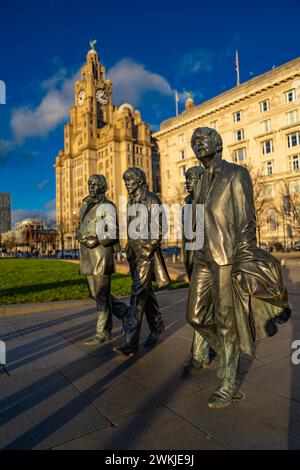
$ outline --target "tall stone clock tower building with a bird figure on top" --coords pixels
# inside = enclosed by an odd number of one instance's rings
[[[91,49],[75,83],[71,119],[64,127],[64,149],[56,157],[56,218],[65,248],[76,247],[79,208],[90,175],[101,173],[108,197],[118,206],[126,197],[123,172],[142,168],[150,189],[159,189],[159,161],[150,127],[130,104],[113,104],[113,85],[96,50]],[[154,178],[154,180],[153,180]]]

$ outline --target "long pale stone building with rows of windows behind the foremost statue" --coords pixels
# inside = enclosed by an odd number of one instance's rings
[[[261,243],[300,240],[300,59],[198,106],[188,98],[178,117],[161,124],[154,137],[165,203],[185,196],[185,171],[197,164],[190,140],[199,126],[217,129],[223,157],[249,167]]]

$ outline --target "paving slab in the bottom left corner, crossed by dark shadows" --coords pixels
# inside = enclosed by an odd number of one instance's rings
[[[110,425],[53,368],[2,378],[0,384],[2,449],[48,449]]]

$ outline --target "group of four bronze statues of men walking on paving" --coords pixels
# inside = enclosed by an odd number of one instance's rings
[[[255,357],[255,341],[274,335],[277,325],[286,322],[291,311],[279,262],[257,247],[249,172],[222,159],[222,139],[214,129],[197,128],[191,145],[199,161],[199,166],[189,168],[185,175],[189,193],[185,208],[190,210],[193,233],[197,234],[200,204],[204,218],[201,246],[193,245],[183,230],[184,264],[190,280],[186,318],[194,330],[192,356],[183,372],[201,372],[215,359],[219,385],[208,406],[222,408],[237,397],[240,354]],[[161,201],[148,190],[140,168],[126,170],[123,180],[129,195],[128,226],[134,221],[135,205],[146,212],[145,218],[138,219],[140,236],[127,232],[126,254],[132,277],[129,305],[111,295],[115,253],[120,250],[119,227],[116,207],[105,196],[103,175],[89,178],[78,240],[81,273],[87,276],[98,311],[96,334],[85,344],[93,347],[110,339],[115,315],[123,323],[123,341],[114,351],[131,357],[139,348],[144,314],[150,331],[146,347],[154,346],[164,331],[152,281],[155,278],[161,287],[170,278],[161,251],[162,213],[152,210],[161,206]],[[184,228],[184,215],[182,223]],[[154,237],[150,236],[153,225],[157,226]]]

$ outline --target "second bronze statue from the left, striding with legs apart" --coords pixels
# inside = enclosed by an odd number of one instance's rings
[[[162,287],[170,282],[170,278],[160,249],[163,227],[162,215],[158,209],[161,201],[156,194],[148,190],[146,174],[140,168],[128,168],[123,174],[123,179],[129,194],[126,253],[132,276],[132,289],[128,315],[124,318],[123,343],[115,347],[114,351],[123,356],[131,356],[139,348],[144,314],[150,329],[144,346],[155,345],[159,335],[163,333],[164,323],[152,281],[155,276],[158,286]],[[138,218],[133,214],[135,209],[140,216]],[[131,227],[135,227],[135,220],[138,225],[137,231],[133,233]],[[134,225],[131,225],[132,223]],[[153,228],[157,230],[152,230]]]

